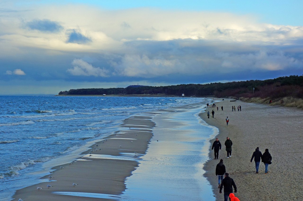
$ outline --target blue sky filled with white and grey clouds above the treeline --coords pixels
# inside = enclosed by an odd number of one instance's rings
[[[1,0],[0,94],[302,75],[303,1]]]

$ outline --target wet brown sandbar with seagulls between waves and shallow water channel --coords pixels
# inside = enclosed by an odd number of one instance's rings
[[[126,177],[130,176],[131,172],[138,167],[136,158],[140,154],[145,154],[148,148],[148,141],[152,137],[151,129],[154,126],[155,123],[151,121],[151,117],[149,116],[133,116],[124,120],[124,123],[121,125],[122,130],[108,136],[106,138],[108,140],[103,141],[104,143],[101,141],[92,146],[94,152],[92,152],[91,157],[89,156],[90,149],[83,153],[86,154],[84,157],[78,158],[82,160],[75,160],[70,165],[61,165],[64,167],[63,169],[61,169],[60,166],[52,168],[56,171],[42,178],[48,179],[48,176],[52,176],[52,180],[54,181],[38,183],[20,189],[15,193],[13,198],[15,198],[15,200],[22,198],[26,201],[109,200],[105,198],[58,195],[53,194],[53,192],[98,193],[98,196],[100,196],[100,194],[105,194],[105,197],[106,195],[116,195],[117,198],[119,198],[119,195],[125,190]],[[94,148],[102,148],[102,150],[95,151]],[[121,152],[129,153],[126,158],[131,160],[106,158],[103,156],[122,156]],[[97,156],[102,157],[98,158]],[[78,185],[73,187],[72,183]],[[46,185],[53,187],[48,189]],[[43,189],[37,190],[37,187],[43,187]]]

